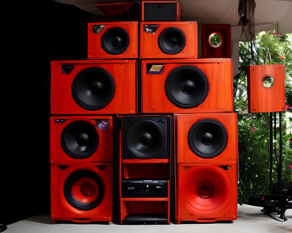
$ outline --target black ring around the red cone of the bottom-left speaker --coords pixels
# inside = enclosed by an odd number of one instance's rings
[[[93,179],[98,185],[99,193],[98,193],[97,198],[93,202],[89,202],[89,203],[80,202],[72,194],[72,186],[74,182],[81,177],[89,177]],[[97,174],[91,171],[80,170],[77,172],[72,172],[64,183],[65,199],[71,206],[79,210],[88,211],[88,210],[95,209],[102,201],[103,195],[104,195],[104,189],[103,189],[102,181]]]

